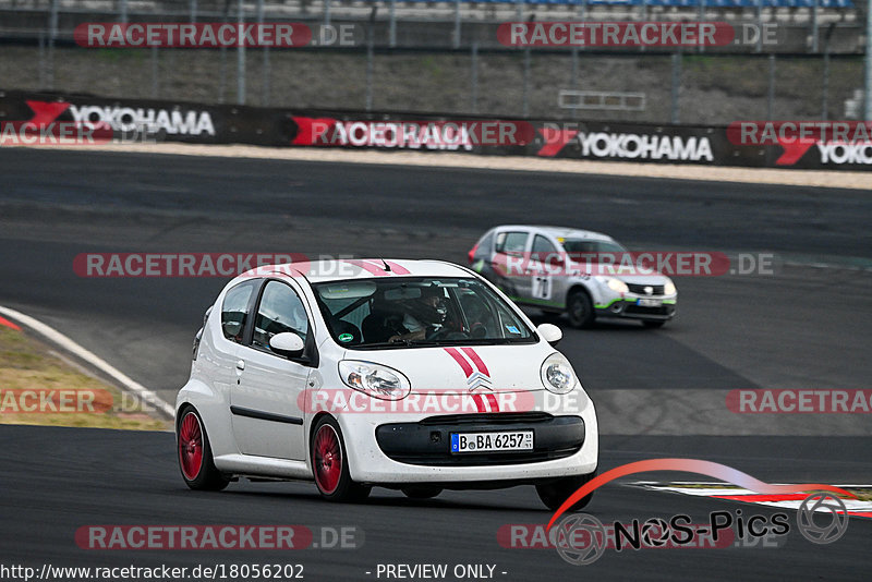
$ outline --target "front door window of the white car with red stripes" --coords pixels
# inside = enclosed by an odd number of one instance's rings
[[[252,348],[271,353],[270,338],[284,331],[296,334],[305,341],[308,335],[306,310],[293,289],[279,281],[269,281],[254,317]]]

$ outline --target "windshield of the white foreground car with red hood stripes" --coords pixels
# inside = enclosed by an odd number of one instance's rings
[[[312,286],[330,335],[355,349],[534,343],[486,284],[460,278],[355,279]]]

